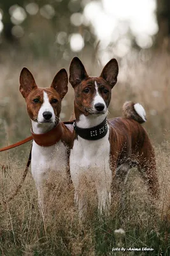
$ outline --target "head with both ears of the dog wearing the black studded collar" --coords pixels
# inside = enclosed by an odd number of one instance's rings
[[[75,93],[75,115],[105,114],[111,100],[111,89],[117,83],[117,60],[111,59],[99,77],[90,77],[83,63],[75,57],[71,61],[69,72],[69,82]]]

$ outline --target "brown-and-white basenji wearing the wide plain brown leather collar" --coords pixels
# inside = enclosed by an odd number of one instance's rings
[[[69,179],[69,147],[73,125],[60,122],[62,99],[67,93],[67,72],[63,68],[47,88],[39,88],[27,68],[20,73],[20,92],[25,98],[32,124],[31,172],[38,190],[43,219],[46,212],[43,186],[50,173]]]

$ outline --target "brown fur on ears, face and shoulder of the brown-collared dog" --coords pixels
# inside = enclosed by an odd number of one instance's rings
[[[50,87],[39,88],[36,85],[31,72],[27,68],[22,69],[20,74],[20,92],[25,98],[25,102],[27,104],[27,113],[29,114],[31,120],[36,121],[38,117],[39,109],[43,104],[43,92],[48,94],[48,99],[52,105],[55,116],[59,118],[62,99],[67,93],[67,80],[66,70],[62,68],[53,78]],[[39,99],[39,102],[34,102],[34,99]],[[57,99],[57,102],[53,103],[53,99]],[[61,124],[63,130],[61,141],[70,147],[73,125],[64,125],[63,123]]]

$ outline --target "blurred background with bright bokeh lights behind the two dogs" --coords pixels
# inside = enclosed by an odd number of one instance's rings
[[[1,0],[0,144],[30,134],[20,95],[22,67],[38,86],[50,86],[56,72],[78,56],[97,76],[117,58],[110,117],[122,115],[125,100],[146,109],[145,124],[154,143],[169,147],[170,3],[168,0]],[[73,89],[62,102],[62,120],[73,111]]]

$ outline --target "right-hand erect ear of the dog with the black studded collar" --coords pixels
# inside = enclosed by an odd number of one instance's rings
[[[116,59],[111,59],[101,72],[101,77],[106,80],[111,88],[117,83],[118,63]]]

